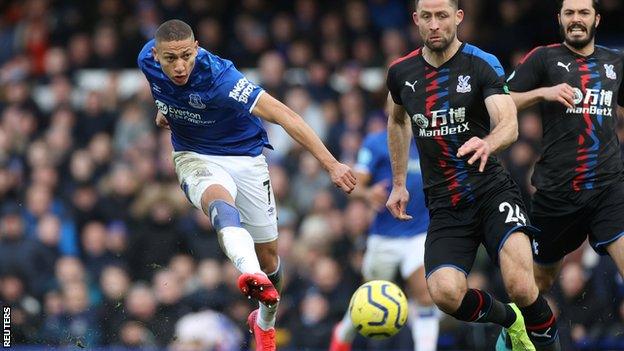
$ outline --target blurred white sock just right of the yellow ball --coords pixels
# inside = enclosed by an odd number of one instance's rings
[[[410,317],[414,350],[435,351],[438,347],[440,311],[435,305],[420,306],[410,303]]]

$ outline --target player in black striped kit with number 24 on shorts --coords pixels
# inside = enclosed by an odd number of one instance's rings
[[[516,350],[558,350],[555,318],[533,278],[532,230],[519,190],[491,155],[518,133],[504,71],[496,57],[459,41],[463,11],[456,0],[417,1],[413,17],[425,46],[388,71],[393,188],[387,206],[395,217],[410,218],[405,175],[411,122],[430,212],[425,270],[434,302],[459,320],[505,327]],[[491,130],[490,118],[496,124]],[[479,244],[500,266],[517,306],[468,288]],[[554,342],[527,336],[525,324],[551,333]]]

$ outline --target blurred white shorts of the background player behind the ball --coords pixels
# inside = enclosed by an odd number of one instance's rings
[[[369,235],[362,262],[364,279],[393,280],[398,269],[401,277],[407,279],[424,265],[425,238],[425,233],[397,238]]]

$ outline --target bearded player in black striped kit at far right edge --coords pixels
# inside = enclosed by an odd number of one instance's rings
[[[624,106],[624,54],[594,44],[598,1],[560,3],[564,42],[534,49],[508,79],[519,109],[540,103],[542,112],[531,216],[541,229],[533,255],[542,291],[588,235],[624,276],[624,167],[615,133],[618,105]]]

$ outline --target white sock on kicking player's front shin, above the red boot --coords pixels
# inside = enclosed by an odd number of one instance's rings
[[[253,239],[246,229],[225,227],[218,236],[223,252],[241,273],[262,272]]]

